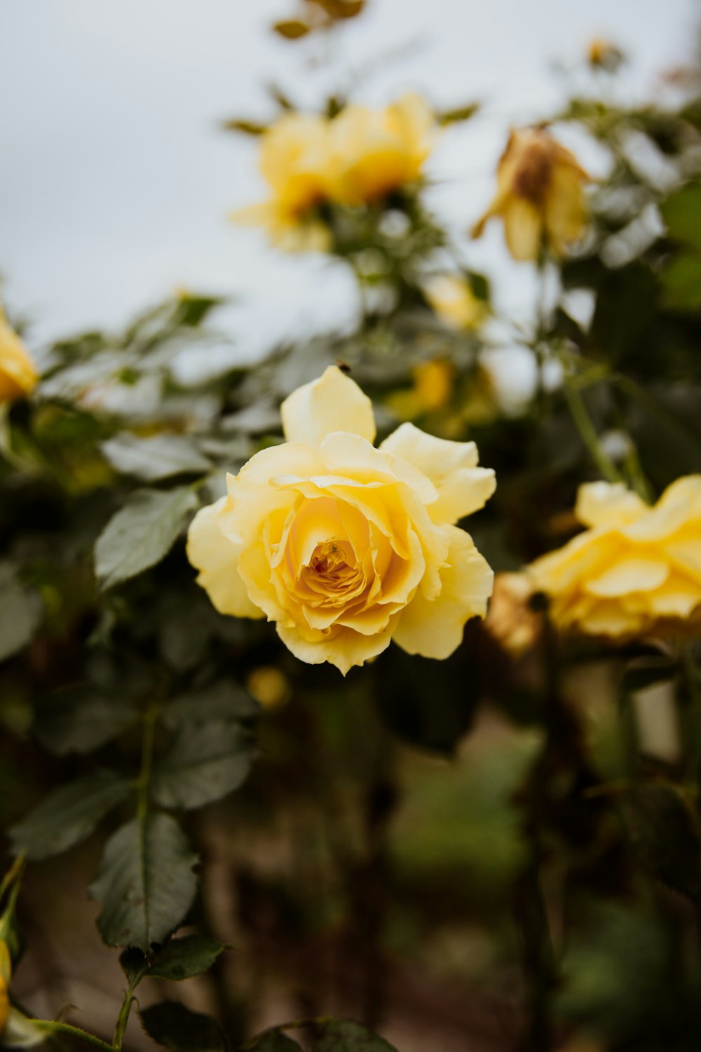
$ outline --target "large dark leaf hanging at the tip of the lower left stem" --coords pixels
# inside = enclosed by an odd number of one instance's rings
[[[192,905],[198,856],[169,815],[135,818],[107,842],[92,898],[102,904],[98,927],[107,946],[148,951],[162,943]]]

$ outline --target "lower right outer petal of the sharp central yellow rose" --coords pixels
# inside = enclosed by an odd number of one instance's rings
[[[444,659],[462,641],[470,618],[483,618],[492,593],[494,573],[479,554],[469,533],[445,526],[449,537],[448,563],[440,570],[442,588],[429,601],[419,591],[401,611],[394,641],[410,654]]]

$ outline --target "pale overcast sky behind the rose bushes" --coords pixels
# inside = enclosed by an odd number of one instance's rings
[[[0,4],[0,270],[8,307],[33,323],[30,345],[120,327],[177,286],[241,297],[229,324],[245,358],[353,317],[343,264],[281,256],[226,220],[265,185],[254,140],[218,122],[269,117],[265,81],[313,106],[377,59],[358,101],[406,88],[441,107],[481,99],[429,167],[431,205],[466,230],[491,197],[509,125],[563,100],[554,59],[574,65],[603,36],[632,57],[627,95],[659,97],[659,74],[690,54],[700,14],[694,0],[369,0],[337,33],[332,61],[312,67],[318,42],[268,32],[293,12],[294,0]],[[412,42],[420,47],[404,60],[382,61]],[[525,309],[530,268],[508,259],[496,223],[465,241],[465,258],[496,279],[498,303]]]

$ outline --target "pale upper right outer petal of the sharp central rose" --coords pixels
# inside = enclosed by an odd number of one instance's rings
[[[427,476],[438,493],[429,505],[434,522],[455,523],[484,506],[494,490],[492,468],[477,467],[474,442],[450,442],[401,424],[379,447],[393,453]]]

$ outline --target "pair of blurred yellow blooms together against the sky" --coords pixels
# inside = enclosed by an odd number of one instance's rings
[[[385,109],[349,105],[332,119],[286,114],[261,142],[270,199],[231,218],[266,227],[282,248],[323,250],[329,232],[316,207],[373,204],[417,180],[435,129],[432,112],[413,94]]]

